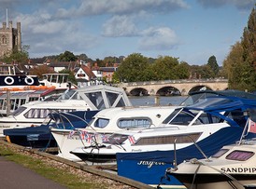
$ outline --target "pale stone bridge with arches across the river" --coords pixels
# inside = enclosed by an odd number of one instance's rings
[[[188,80],[164,80],[121,83],[120,88],[124,88],[126,93],[131,96],[146,95],[182,95],[186,96],[189,92],[210,89],[224,90],[228,88],[227,79],[188,79]]]

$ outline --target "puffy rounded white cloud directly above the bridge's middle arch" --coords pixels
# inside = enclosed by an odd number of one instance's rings
[[[167,27],[149,28],[142,32],[139,40],[141,50],[170,50],[178,46],[178,37]]]

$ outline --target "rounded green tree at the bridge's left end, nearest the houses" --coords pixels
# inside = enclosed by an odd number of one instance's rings
[[[149,61],[140,53],[130,54],[119,66],[117,74],[121,81],[147,81]]]

